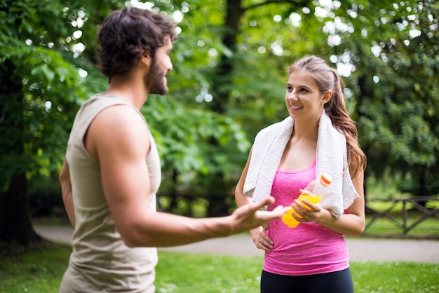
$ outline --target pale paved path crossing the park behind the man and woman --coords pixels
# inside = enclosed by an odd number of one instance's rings
[[[73,229],[62,226],[36,225],[34,229],[48,240],[70,243]],[[439,240],[400,240],[374,238],[346,238],[351,261],[414,261],[439,264]],[[230,236],[204,240],[200,243],[159,250],[263,256],[253,244],[250,235]]]

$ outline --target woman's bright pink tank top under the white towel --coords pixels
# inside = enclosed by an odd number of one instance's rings
[[[316,178],[316,161],[308,168],[295,171],[278,170],[273,180],[271,196],[277,205],[291,205]],[[342,271],[349,267],[349,252],[344,236],[316,223],[300,223],[295,229],[281,219],[270,222],[266,233],[274,247],[265,253],[264,271],[279,275],[313,275]]]

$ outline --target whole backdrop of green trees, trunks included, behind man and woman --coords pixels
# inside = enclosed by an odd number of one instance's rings
[[[438,195],[438,1],[1,0],[0,242],[39,240],[29,189],[49,182],[41,193],[59,196],[74,115],[107,86],[97,25],[126,5],[178,24],[170,93],[142,108],[161,154],[159,207],[229,213],[252,139],[287,115],[286,67],[310,54],[344,76],[367,182]]]

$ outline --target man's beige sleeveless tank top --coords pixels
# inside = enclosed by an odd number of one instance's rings
[[[112,95],[95,95],[76,114],[66,158],[74,198],[76,229],[73,252],[62,279],[60,292],[154,292],[155,247],[127,247],[116,230],[100,178],[99,163],[83,144],[88,127],[103,109],[116,104],[133,105]],[[142,116],[143,118],[143,116]],[[145,121],[146,123],[146,121]],[[156,192],[161,182],[161,164],[154,138],[146,156],[151,182],[149,210],[156,210]],[[146,209],[147,207],[145,207]]]

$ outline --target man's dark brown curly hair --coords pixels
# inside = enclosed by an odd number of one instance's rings
[[[97,32],[98,67],[109,79],[127,74],[145,51],[154,57],[166,36],[177,39],[175,22],[161,13],[134,7],[114,11]]]

